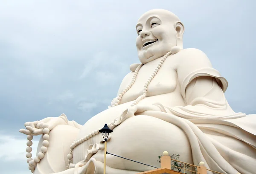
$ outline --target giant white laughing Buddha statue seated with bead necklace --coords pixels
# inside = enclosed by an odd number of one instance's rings
[[[207,55],[183,49],[179,18],[154,9],[139,18],[136,30],[141,64],[131,65],[107,110],[83,126],[64,114],[25,123],[20,132],[28,135],[29,169],[34,174],[102,174],[104,146],[98,131],[108,123],[112,154],[160,167],[157,157],[168,151],[180,154],[180,161],[203,161],[224,174],[255,174],[256,115],[235,113],[224,96],[227,80]],[[32,136],[41,134],[32,159]],[[151,169],[107,155],[107,174]]]

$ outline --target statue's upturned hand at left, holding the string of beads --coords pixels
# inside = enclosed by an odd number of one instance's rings
[[[44,128],[49,128],[49,131],[51,131],[57,125],[67,125],[65,118],[67,119],[67,117],[62,114],[59,117],[47,117],[40,121],[26,122],[24,124],[26,129],[20,129],[20,132],[26,135],[40,135],[44,133]]]

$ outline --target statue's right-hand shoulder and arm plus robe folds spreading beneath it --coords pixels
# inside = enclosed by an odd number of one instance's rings
[[[168,110],[185,119],[232,119],[244,116],[235,113],[224,96],[227,80],[212,68],[207,56],[198,49],[185,49],[177,65],[180,93],[186,106]]]

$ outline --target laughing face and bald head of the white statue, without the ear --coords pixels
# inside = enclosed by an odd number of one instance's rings
[[[177,46],[177,21],[175,14],[163,9],[148,11],[140,17],[136,46],[141,63],[160,58]]]

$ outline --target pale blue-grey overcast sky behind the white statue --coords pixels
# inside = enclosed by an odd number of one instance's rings
[[[30,173],[18,132],[24,122],[65,113],[83,125],[108,107],[139,63],[135,26],[150,9],[177,14],[184,48],[201,49],[227,78],[233,110],[256,113],[255,7],[253,0],[0,0],[0,173]]]

